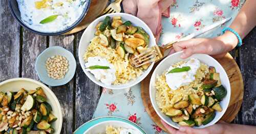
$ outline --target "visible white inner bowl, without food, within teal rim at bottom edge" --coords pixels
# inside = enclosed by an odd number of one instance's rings
[[[100,123],[90,127],[87,131],[84,132],[84,134],[105,133],[106,126],[110,126],[110,125],[113,126],[113,127],[116,127],[116,128],[122,127],[122,128],[126,128],[126,129],[133,129],[133,130],[138,131],[140,134],[143,134],[135,126],[133,126],[129,123],[122,122],[122,121],[104,121],[104,122],[100,122]]]

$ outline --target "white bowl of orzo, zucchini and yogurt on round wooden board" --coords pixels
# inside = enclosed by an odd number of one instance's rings
[[[224,115],[230,84],[222,66],[208,55],[180,59],[181,52],[165,58],[150,81],[150,98],[156,113],[179,128],[204,128]]]

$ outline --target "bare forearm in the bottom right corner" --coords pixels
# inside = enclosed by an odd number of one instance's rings
[[[233,133],[246,133],[254,134],[256,131],[256,126],[249,125],[239,125],[239,124],[227,124],[224,127],[225,131],[223,134],[233,134]]]

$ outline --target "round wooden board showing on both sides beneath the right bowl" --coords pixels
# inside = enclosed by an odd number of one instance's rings
[[[243,78],[236,61],[233,60],[232,56],[229,53],[227,53],[227,55],[224,58],[217,59],[217,61],[225,69],[230,81],[230,86],[231,86],[231,98],[230,98],[229,106],[226,113],[221,119],[226,122],[231,122],[238,114],[243,101],[243,95],[244,95]],[[156,66],[157,64],[154,65],[151,73],[148,74],[147,77],[141,82],[141,97],[142,97],[143,105],[145,107],[147,114],[159,127],[161,127],[164,131],[166,131],[166,129],[160,122],[160,117],[157,115],[157,113],[155,112],[151,104],[150,93],[148,88],[150,84],[151,75]]]

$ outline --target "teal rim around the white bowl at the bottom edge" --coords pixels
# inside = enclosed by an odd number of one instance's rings
[[[89,128],[95,126],[98,123],[104,122],[104,121],[122,121],[122,122],[128,123],[130,125],[133,125],[137,129],[139,129],[140,132],[142,132],[143,134],[146,134],[146,132],[139,125],[137,125],[136,123],[134,123],[134,122],[132,122],[130,120],[127,120],[127,119],[124,119],[124,118],[121,118],[121,117],[115,117],[115,116],[103,116],[103,117],[98,117],[98,118],[92,119],[92,120],[90,120],[90,121],[88,121],[86,123],[83,123],[81,126],[79,126],[73,132],[73,134],[84,133]]]

